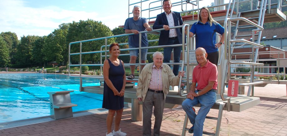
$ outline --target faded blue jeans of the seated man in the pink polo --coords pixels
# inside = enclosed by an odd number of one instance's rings
[[[195,93],[196,92],[197,91],[195,91]],[[207,113],[209,112],[215,101],[216,93],[209,91],[201,96],[194,97],[193,100],[187,98],[182,102],[183,110],[186,112],[191,124],[194,125],[194,136],[202,136],[205,117],[207,116]],[[200,109],[196,115],[195,112],[192,110],[192,107],[196,106],[199,103]]]

